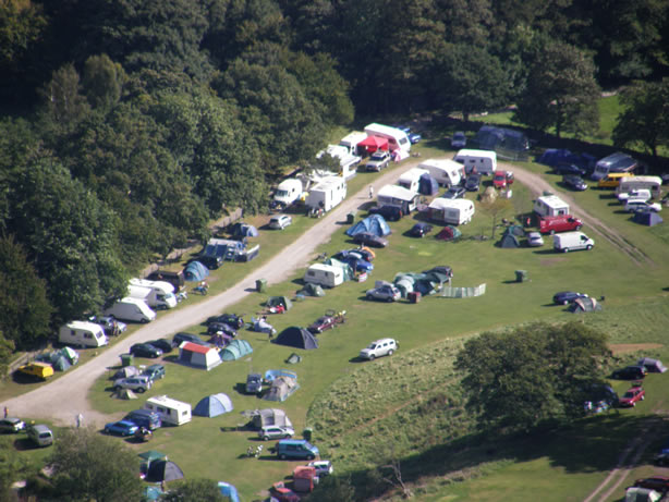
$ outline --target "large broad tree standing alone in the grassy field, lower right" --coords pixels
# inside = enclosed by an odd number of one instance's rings
[[[500,432],[582,416],[587,391],[605,383],[606,340],[580,322],[483,333],[465,343],[455,363],[467,407],[483,428]]]

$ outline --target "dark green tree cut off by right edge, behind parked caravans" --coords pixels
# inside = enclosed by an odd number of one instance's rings
[[[657,157],[659,145],[669,145],[669,78],[636,82],[620,95],[623,111],[613,128],[617,146],[645,149]]]

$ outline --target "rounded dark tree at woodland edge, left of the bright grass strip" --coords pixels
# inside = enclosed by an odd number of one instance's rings
[[[597,99],[593,60],[576,47],[547,41],[536,52],[525,88],[518,100],[514,119],[531,127],[555,127],[576,136],[598,127]]]

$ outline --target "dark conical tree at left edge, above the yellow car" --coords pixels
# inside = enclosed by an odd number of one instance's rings
[[[45,281],[26,261],[25,250],[13,236],[0,237],[0,331],[19,348],[46,340],[52,307],[47,301]]]

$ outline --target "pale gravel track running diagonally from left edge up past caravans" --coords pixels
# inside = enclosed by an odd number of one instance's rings
[[[370,181],[374,192],[378,193],[384,185],[394,183],[405,169],[418,163],[419,160],[411,159],[403,163],[401,169],[394,169],[374,177],[374,181]],[[81,413],[84,415],[86,425],[104,426],[110,417],[90,408],[87,393],[95,380],[102,376],[109,367],[119,365],[119,356],[127,353],[131,345],[183,331],[221,313],[244,296],[255,292],[256,279],[264,278],[268,284],[285,281],[296,269],[308,264],[317,246],[328,242],[334,232],[341,230],[341,222],[345,221],[346,213],[360,209],[368,201],[368,186],[365,186],[238,284],[196,305],[182,306],[162,314],[155,321],[135,331],[113,347],[105,350],[88,363],[72,368],[59,379],[45,383],[34,391],[0,403],[0,406],[7,407],[12,416],[46,419],[62,426],[73,426],[76,421],[75,417]]]

